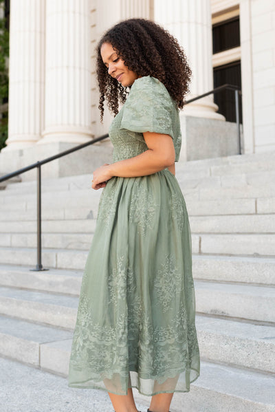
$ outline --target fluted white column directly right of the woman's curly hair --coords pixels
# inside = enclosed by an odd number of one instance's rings
[[[212,23],[210,0],[174,0],[173,7],[166,0],[155,0],[156,23],[173,34],[184,47],[192,69],[190,94],[186,100],[213,89]],[[224,120],[216,113],[213,95],[197,100],[184,108],[184,114]]]

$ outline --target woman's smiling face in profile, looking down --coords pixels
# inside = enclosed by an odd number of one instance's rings
[[[124,65],[124,61],[122,58],[118,57],[118,54],[115,52],[115,49],[113,49],[111,43],[103,43],[100,53],[102,61],[108,69],[109,75],[116,78],[123,87],[133,85],[135,79],[141,77]]]

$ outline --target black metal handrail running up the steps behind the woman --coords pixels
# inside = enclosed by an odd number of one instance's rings
[[[207,93],[201,94],[200,96],[197,96],[195,98],[192,98],[190,100],[187,100],[184,105],[188,105],[190,102],[194,102],[195,100],[199,100],[200,98],[203,98],[205,96],[208,96],[209,94],[215,94],[223,89],[231,89],[235,91],[235,106],[236,106],[236,123],[237,123],[237,130],[238,130],[238,137],[239,137],[239,153],[241,154],[241,131],[240,131],[240,122],[239,122],[239,94],[241,94],[241,91],[238,86],[234,85],[223,85],[216,87],[213,90],[208,91]],[[89,142],[79,144],[76,147],[72,147],[72,149],[67,149],[66,151],[63,151],[61,153],[58,153],[57,155],[51,156],[50,158],[46,158],[44,160],[39,160],[36,163],[30,164],[29,166],[25,166],[22,169],[19,169],[17,171],[14,171],[12,173],[8,173],[7,175],[4,175],[0,177],[0,183],[4,182],[5,180],[10,179],[11,177],[21,175],[22,173],[28,172],[34,168],[37,168],[37,177],[36,177],[36,198],[37,198],[37,263],[36,263],[36,268],[35,269],[30,269],[30,270],[35,270],[35,271],[41,271],[41,270],[47,270],[43,268],[43,265],[41,263],[41,166],[45,163],[52,162],[52,160],[56,160],[58,158],[62,158],[65,155],[69,155],[69,153],[73,153],[74,151],[78,151],[80,149],[83,149],[84,147],[89,146],[90,144],[94,144],[96,142],[100,142],[101,140],[106,139],[109,136],[109,134],[104,134],[100,136],[99,138],[95,138]]]

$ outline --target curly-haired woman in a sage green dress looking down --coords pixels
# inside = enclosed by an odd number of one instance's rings
[[[199,376],[190,228],[175,178],[190,68],[176,39],[145,19],[115,25],[97,52],[101,120],[105,98],[115,114],[113,162],[92,181],[104,190],[69,386],[108,391],[116,412],[137,412],[135,387],[152,396],[149,412],[168,412]]]

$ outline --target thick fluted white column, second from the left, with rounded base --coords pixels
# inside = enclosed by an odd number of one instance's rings
[[[39,144],[91,139],[89,3],[46,0],[45,129]]]

